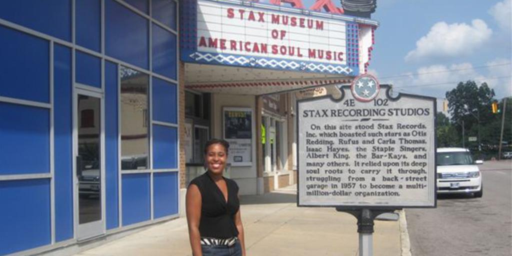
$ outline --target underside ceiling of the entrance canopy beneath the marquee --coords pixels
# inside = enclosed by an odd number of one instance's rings
[[[353,77],[220,65],[185,63],[185,89],[224,94],[262,95],[326,84],[348,84]]]

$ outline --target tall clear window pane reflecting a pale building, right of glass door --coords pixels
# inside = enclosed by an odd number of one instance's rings
[[[147,169],[149,76],[121,67],[121,169]]]

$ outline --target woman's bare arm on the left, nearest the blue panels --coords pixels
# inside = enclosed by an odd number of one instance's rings
[[[199,221],[201,220],[201,192],[195,184],[191,184],[187,189],[186,212],[188,237],[190,239],[192,255],[202,256],[201,234],[199,233]]]

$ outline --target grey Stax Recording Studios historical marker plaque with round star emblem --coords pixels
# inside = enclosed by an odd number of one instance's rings
[[[436,99],[389,89],[363,75],[297,102],[299,206],[436,206]]]

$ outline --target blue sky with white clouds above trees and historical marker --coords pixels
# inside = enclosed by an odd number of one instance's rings
[[[510,0],[377,0],[369,72],[438,102],[466,80],[486,81],[498,99],[512,96],[510,9]]]

